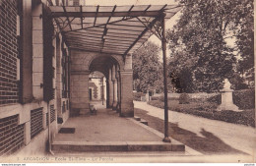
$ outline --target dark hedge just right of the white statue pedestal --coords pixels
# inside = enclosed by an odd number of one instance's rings
[[[253,109],[255,108],[255,90],[243,89],[233,91],[233,103],[239,109]]]

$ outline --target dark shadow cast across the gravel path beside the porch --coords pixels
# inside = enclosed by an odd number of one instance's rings
[[[164,133],[163,120],[147,114],[148,112],[142,109],[135,108],[135,115],[148,121],[149,126],[155,130]],[[188,122],[189,123],[189,122]],[[169,136],[174,138],[191,148],[204,154],[247,154],[243,151],[237,150],[230,145],[224,143],[221,138],[214,134],[201,129],[201,134],[205,137],[199,137],[197,134],[179,128],[177,124],[169,123]]]

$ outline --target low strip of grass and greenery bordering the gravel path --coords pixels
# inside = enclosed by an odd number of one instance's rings
[[[164,108],[164,102],[161,100],[149,101],[149,104],[158,108]],[[179,104],[177,99],[168,100],[168,108],[175,112],[191,114],[213,120],[224,121],[233,124],[246,126],[255,126],[254,109],[246,109],[241,112],[231,110],[217,111],[218,104],[206,100],[192,100],[188,104]]]

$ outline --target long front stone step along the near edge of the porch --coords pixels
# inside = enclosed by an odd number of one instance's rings
[[[184,144],[162,141],[53,142],[54,153],[93,151],[185,151]]]

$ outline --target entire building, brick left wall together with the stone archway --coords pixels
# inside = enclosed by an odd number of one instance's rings
[[[134,115],[132,56],[68,48],[47,3],[0,0],[1,156],[50,151],[67,119],[89,111],[95,71],[105,78],[106,107]]]

